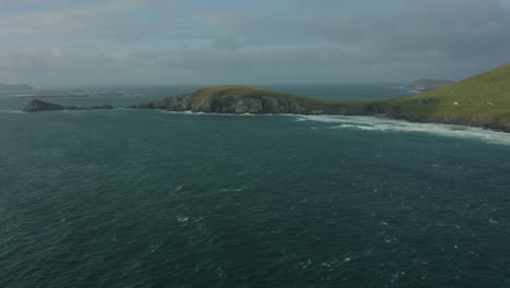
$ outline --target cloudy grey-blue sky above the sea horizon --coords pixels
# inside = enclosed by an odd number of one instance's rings
[[[510,62],[510,0],[0,0],[0,83],[405,83]]]

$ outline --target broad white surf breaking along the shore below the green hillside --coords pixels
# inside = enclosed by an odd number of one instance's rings
[[[363,116],[300,116],[299,121],[317,121],[331,123],[331,129],[367,130],[393,132],[423,132],[441,136],[476,139],[495,144],[510,145],[510,133],[496,132],[482,128],[412,123],[403,120],[363,117]]]

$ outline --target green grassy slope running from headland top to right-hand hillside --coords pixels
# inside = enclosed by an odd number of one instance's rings
[[[206,103],[226,94],[289,97],[332,113],[336,113],[335,107],[379,105],[401,107],[406,113],[416,116],[507,122],[510,121],[510,63],[430,92],[386,100],[328,101],[245,86],[207,87],[196,91],[191,97],[194,101]]]

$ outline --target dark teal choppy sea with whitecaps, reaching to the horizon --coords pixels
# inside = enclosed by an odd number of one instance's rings
[[[510,134],[122,108],[194,88],[0,96],[0,287],[510,287]]]

